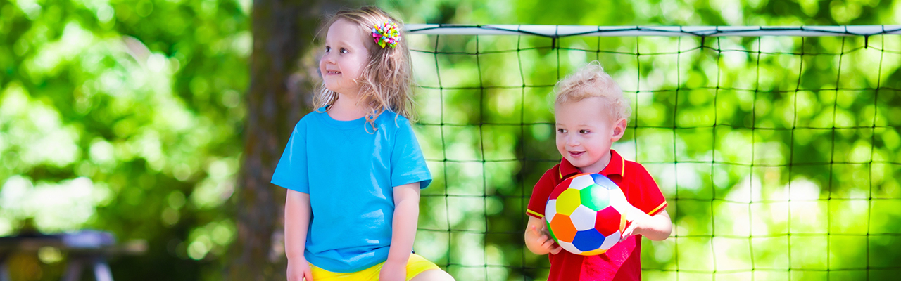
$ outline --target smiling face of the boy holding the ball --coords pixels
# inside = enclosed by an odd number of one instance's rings
[[[610,162],[610,146],[623,138],[626,120],[604,112],[605,100],[589,97],[554,107],[557,150],[583,173],[597,173]]]

